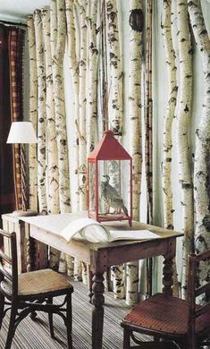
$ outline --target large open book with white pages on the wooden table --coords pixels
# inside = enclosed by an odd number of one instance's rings
[[[72,238],[85,239],[90,243],[111,243],[117,240],[147,240],[160,238],[149,230],[109,230],[91,218],[80,218],[65,226],[61,236],[67,241]]]

